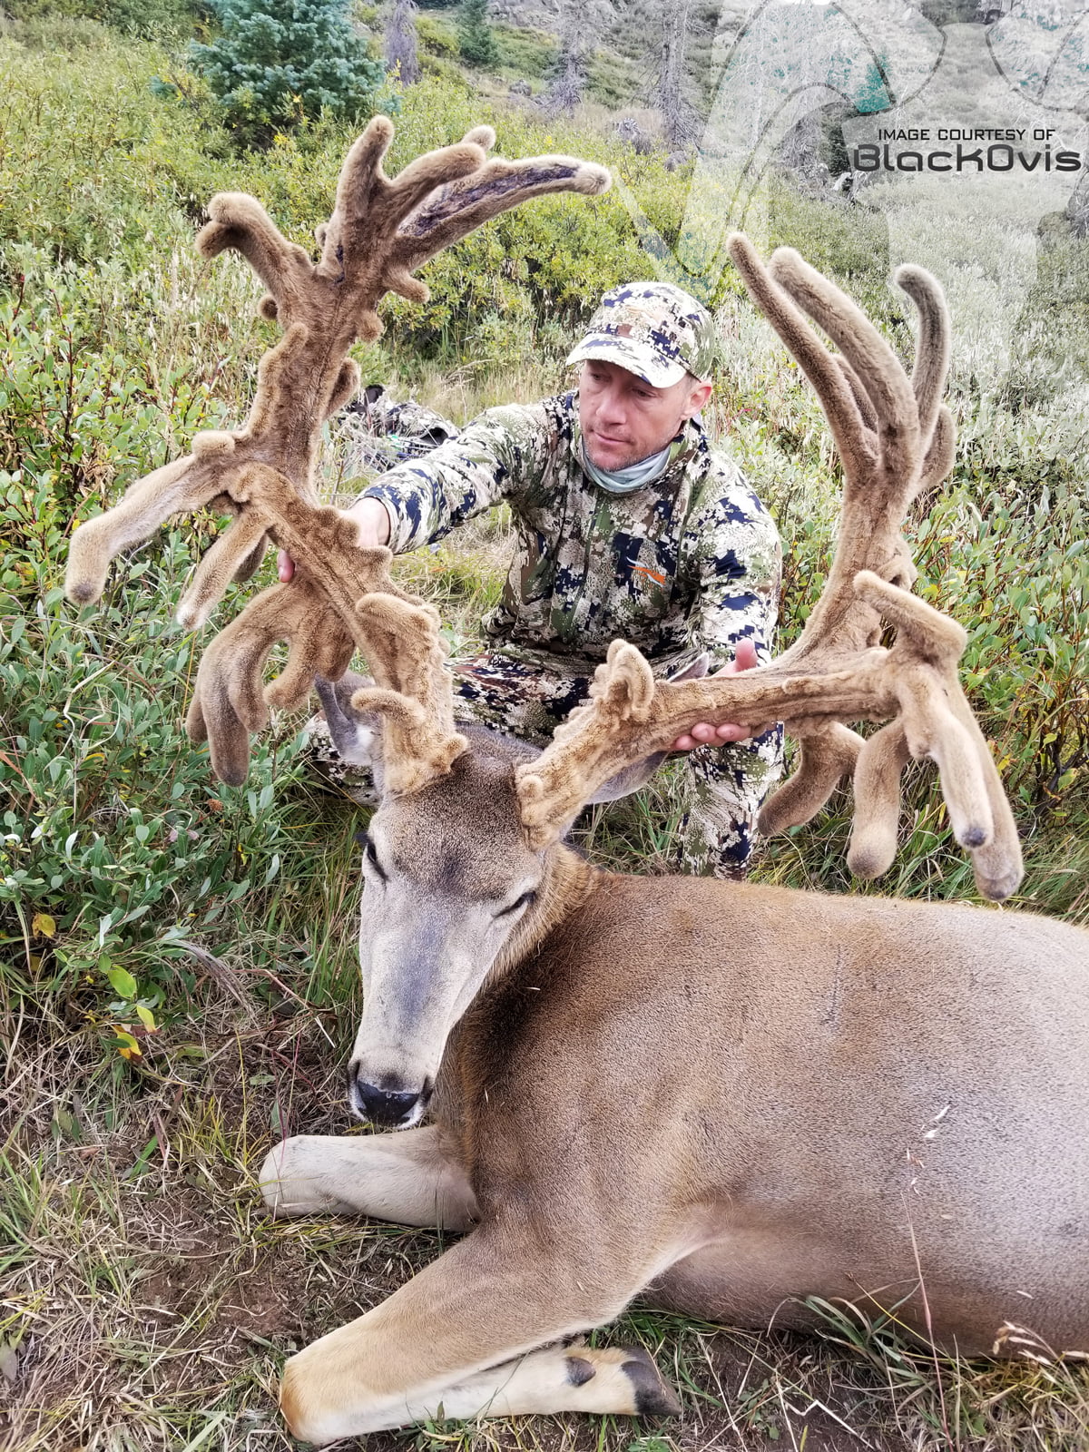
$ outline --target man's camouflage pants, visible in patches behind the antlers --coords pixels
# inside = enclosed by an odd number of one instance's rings
[[[588,675],[542,669],[539,662],[502,652],[452,661],[454,716],[478,722],[544,746],[560,722],[590,694]],[[311,730],[314,752],[324,770],[362,804],[373,804],[364,768],[346,767],[324,732]],[[698,746],[684,756],[678,783],[682,794],[677,865],[706,877],[742,877],[752,852],[755,820],[764,797],[783,770],[778,727],[733,746]]]

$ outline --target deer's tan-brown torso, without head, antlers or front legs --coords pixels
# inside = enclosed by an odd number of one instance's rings
[[[816,1294],[923,1330],[922,1279],[950,1347],[1085,1347],[1089,939],[980,916],[600,874],[452,1043],[481,1214],[568,1186],[703,1318],[807,1324]]]

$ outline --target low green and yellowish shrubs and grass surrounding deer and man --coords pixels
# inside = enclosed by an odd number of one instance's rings
[[[179,520],[134,550],[99,607],[62,598],[74,524],[197,430],[238,421],[277,335],[256,317],[241,260],[197,260],[208,197],[251,192],[309,245],[357,129],[325,113],[240,147],[182,51],[163,48],[190,32],[190,12],[161,6],[158,41],[132,33],[121,9],[102,12],[119,29],[86,9],[42,19],[26,6],[0,30],[0,1374],[15,1368],[4,1446],[19,1452],[286,1446],[269,1398],[283,1353],[436,1247],[423,1233],[273,1225],[258,1211],[253,1170],[270,1135],[344,1128],[359,822],[305,771],[301,719],[274,723],[240,788],[218,784],[184,738],[205,642],[171,611],[222,521]],[[391,170],[489,121],[507,155],[610,164],[653,228],[677,237],[685,168],[637,154],[600,107],[547,119],[489,100],[449,51],[385,99]],[[774,187],[775,240],[862,298],[908,356],[864,211]],[[1040,245],[1024,366],[987,392],[954,353],[957,463],[912,533],[919,591],[968,630],[964,677],[1025,842],[1018,905],[1089,922],[1089,428],[1064,392],[1089,385],[1076,341],[1089,261],[1061,225]],[[428,264],[425,306],[388,299],[385,335],[357,357],[367,379],[460,423],[555,391],[597,296],[652,266],[617,190],[539,200]],[[786,645],[831,560],[838,466],[809,386],[736,277],[709,301],[725,366],[707,424],[778,520]],[[350,486],[335,439],[324,465],[333,498]],[[495,595],[507,539],[498,517],[399,562],[459,648]],[[973,896],[929,770],[912,774],[881,883],[849,881],[848,823],[849,799],[836,797],[812,828],[768,844],[756,876]],[[674,828],[666,771],[652,793],[595,809],[578,835],[597,861],[655,871]],[[417,1445],[755,1449],[810,1424],[810,1446],[1085,1445],[1089,1381],[1076,1368],[935,1361],[889,1323],[828,1310],[828,1337],[810,1342],[633,1316],[627,1331],[688,1388],[675,1437],[605,1424],[597,1440],[597,1426],[571,1419],[520,1424],[515,1443],[501,1429],[430,1429]]]

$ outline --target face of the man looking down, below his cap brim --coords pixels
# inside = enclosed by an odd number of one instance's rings
[[[691,376],[655,388],[619,363],[590,359],[578,383],[578,421],[590,462],[613,472],[659,453],[710,392],[710,383]]]

